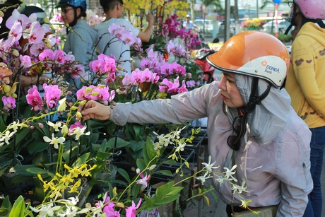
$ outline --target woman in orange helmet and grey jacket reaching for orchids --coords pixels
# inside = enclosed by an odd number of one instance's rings
[[[117,103],[113,108],[90,101],[81,112],[83,120],[182,124],[208,117],[208,151],[220,165],[215,171],[232,168],[235,160],[237,184],[246,182],[247,192],[241,195],[252,199],[250,208],[278,205],[276,216],[302,216],[312,191],[311,133],[281,88],[288,50],[268,33],[247,31],[230,38],[208,62],[223,71],[220,82],[171,99]],[[232,201],[228,182],[214,182],[229,216],[231,206],[244,210],[236,194]]]

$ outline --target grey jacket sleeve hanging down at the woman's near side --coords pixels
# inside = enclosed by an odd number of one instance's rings
[[[280,180],[281,201],[277,216],[303,216],[312,191],[310,175],[310,136],[305,123],[297,131],[283,134],[285,143],[280,143],[275,176]]]

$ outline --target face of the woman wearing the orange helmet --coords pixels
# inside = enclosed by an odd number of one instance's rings
[[[235,75],[229,72],[223,72],[221,81],[218,84],[221,90],[221,98],[228,107],[243,107],[244,102],[240,95],[240,90],[236,86]]]

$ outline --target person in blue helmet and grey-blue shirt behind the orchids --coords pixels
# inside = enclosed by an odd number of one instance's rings
[[[60,0],[55,7],[61,8],[62,20],[73,30],[69,31],[63,50],[66,54],[72,52],[76,60],[85,65],[87,71],[89,62],[97,58],[94,47],[98,33],[82,20],[86,16],[85,0]],[[74,79],[71,76],[66,76],[66,80],[77,87],[81,83],[80,78]]]

